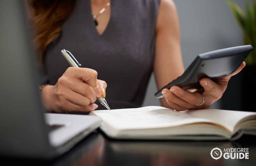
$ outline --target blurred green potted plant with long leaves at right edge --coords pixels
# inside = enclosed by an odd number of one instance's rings
[[[256,65],[256,0],[253,1],[253,4],[246,1],[245,12],[230,0],[227,1],[227,4],[244,32],[244,44],[251,44],[254,48],[247,57],[246,63]]]

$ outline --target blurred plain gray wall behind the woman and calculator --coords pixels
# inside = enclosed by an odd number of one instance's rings
[[[233,1],[244,9],[245,0]],[[174,0],[174,2],[179,15],[185,68],[199,53],[243,44],[242,31],[225,0]],[[152,74],[143,106],[160,105],[159,99],[154,97],[156,91],[155,78]],[[215,102],[211,108],[221,109],[220,101]]]

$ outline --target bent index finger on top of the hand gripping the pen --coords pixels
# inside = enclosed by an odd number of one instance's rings
[[[74,78],[82,79],[83,82],[87,83],[92,87],[96,97],[102,97],[102,94],[97,82],[97,76],[98,76],[97,71],[89,68],[82,68],[82,67],[68,67],[64,74],[72,76]]]

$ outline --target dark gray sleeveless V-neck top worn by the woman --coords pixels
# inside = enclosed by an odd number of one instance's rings
[[[160,0],[111,0],[108,26],[98,35],[90,0],[78,0],[61,36],[47,48],[47,83],[55,85],[69,67],[60,52],[67,49],[82,67],[96,70],[98,79],[106,81],[111,109],[141,107],[153,70],[159,5]]]

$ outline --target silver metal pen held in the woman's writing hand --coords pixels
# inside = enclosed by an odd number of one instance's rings
[[[64,58],[67,60],[67,62],[70,64],[70,66],[72,66],[72,67],[81,66],[81,64],[75,59],[75,57],[68,50],[63,49],[63,50],[61,50],[61,53],[64,56]],[[104,107],[106,107],[108,110],[110,110],[105,98],[100,97],[97,99],[100,102],[100,104],[102,104]]]

